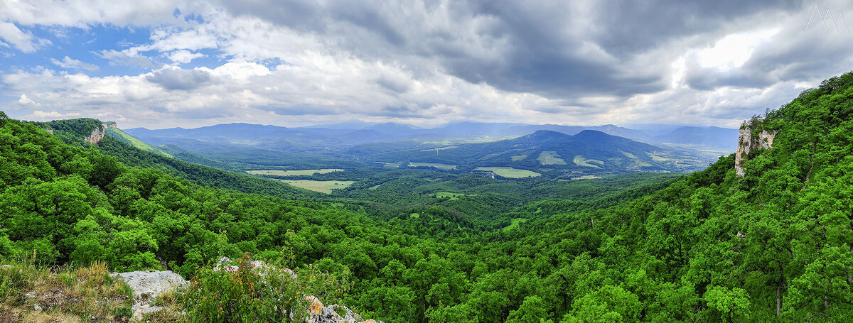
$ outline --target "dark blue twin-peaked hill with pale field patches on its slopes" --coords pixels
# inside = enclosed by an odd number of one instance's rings
[[[460,170],[513,167],[538,172],[574,170],[581,174],[700,170],[713,161],[709,157],[693,151],[658,147],[611,136],[596,130],[582,130],[574,136],[552,130],[538,130],[511,140],[363,156],[365,160],[374,162],[409,166],[450,165]]]

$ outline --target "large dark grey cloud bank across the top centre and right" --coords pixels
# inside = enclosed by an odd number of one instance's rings
[[[315,32],[355,55],[438,61],[475,84],[552,98],[579,94],[630,96],[665,88],[667,61],[632,65],[636,55],[730,20],[764,10],[795,10],[799,1],[437,1],[363,0],[229,3],[282,26]],[[435,23],[446,16],[446,24]],[[473,21],[480,21],[472,23]],[[414,65],[415,61],[407,61]],[[417,66],[412,66],[417,71]],[[762,86],[766,80],[695,78],[717,84]],[[393,89],[393,88],[391,88]]]

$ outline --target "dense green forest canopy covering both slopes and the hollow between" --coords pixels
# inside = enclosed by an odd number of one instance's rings
[[[750,153],[743,177],[725,156],[630,198],[525,201],[512,211],[552,209],[508,231],[441,207],[399,217],[286,186],[237,192],[226,188],[245,185],[227,185],[244,177],[205,182],[189,170],[213,170],[132,157],[151,155],[119,141],[80,143],[100,122],[51,135],[3,114],[0,256],[191,277],[248,252],[351,273],[343,303],[386,322],[844,321],[851,113],[848,73],[753,120],[749,130],[777,135]]]

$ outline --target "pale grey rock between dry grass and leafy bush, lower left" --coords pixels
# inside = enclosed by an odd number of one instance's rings
[[[171,270],[165,271],[132,271],[129,273],[113,273],[114,278],[125,280],[133,290],[133,320],[142,319],[142,315],[159,312],[163,308],[151,305],[154,298],[175,291],[178,287],[186,286],[189,282],[180,274]]]

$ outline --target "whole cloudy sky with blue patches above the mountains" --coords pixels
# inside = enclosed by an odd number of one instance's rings
[[[853,70],[848,13],[853,24],[850,1],[0,0],[0,110],[149,129],[734,128]]]

